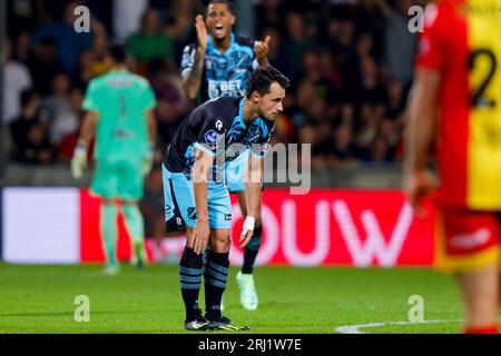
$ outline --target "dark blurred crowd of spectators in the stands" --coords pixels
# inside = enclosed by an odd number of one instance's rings
[[[313,169],[391,164],[402,156],[403,108],[412,82],[416,33],[409,8],[424,0],[262,0],[255,39],[272,37],[269,62],[292,88],[275,142],[312,144]],[[73,29],[75,8],[90,9],[90,32]],[[4,112],[9,158],[22,165],[69,165],[89,81],[105,73],[107,49],[126,43],[132,71],[158,100],[157,167],[143,210],[161,236],[159,166],[193,108],[181,89],[184,47],[196,41],[202,0],[9,0],[4,42]],[[242,14],[240,14],[242,16]],[[238,22],[238,13],[237,13]],[[148,218],[149,216],[149,218]]]

